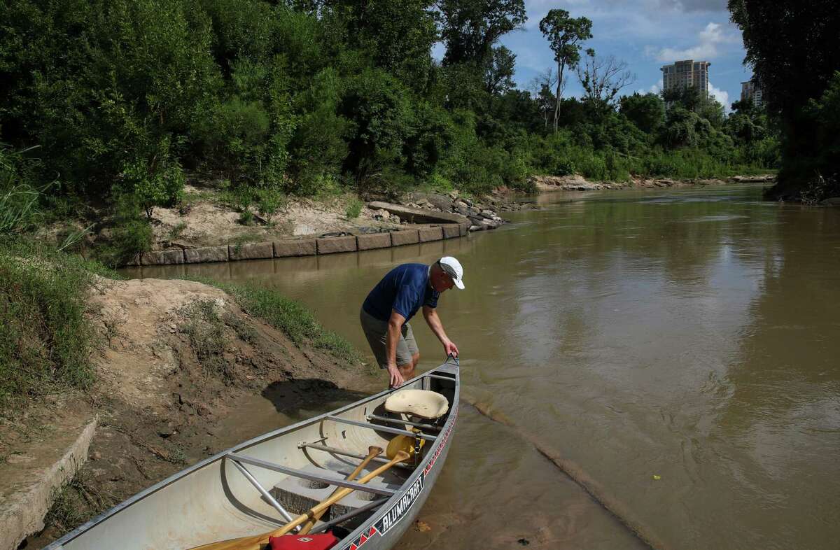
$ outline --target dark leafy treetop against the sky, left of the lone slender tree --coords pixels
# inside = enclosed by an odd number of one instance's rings
[[[524,0],[439,0],[444,65],[482,64],[503,34],[525,23]]]

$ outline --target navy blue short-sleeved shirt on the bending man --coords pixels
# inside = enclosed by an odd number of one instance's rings
[[[406,318],[414,317],[420,306],[437,307],[440,292],[428,283],[428,265],[396,266],[373,287],[362,308],[371,316],[387,322],[391,310]]]

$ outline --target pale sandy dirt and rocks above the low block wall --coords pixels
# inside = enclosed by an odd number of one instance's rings
[[[363,202],[353,193],[315,198],[286,197],[269,214],[259,204],[236,204],[230,196],[212,186],[184,187],[184,198],[173,207],[155,207],[149,219],[150,250],[202,249],[229,245],[294,241],[296,239],[388,233],[415,226],[411,217],[388,212],[371,204],[383,197]],[[504,221],[501,211],[533,207],[516,202],[506,190],[486,196],[468,196],[459,191],[412,191],[399,197],[385,197],[397,207],[427,212],[434,217],[459,217],[454,223],[467,223],[470,231],[496,228]],[[53,223],[39,231],[39,238],[60,245],[73,232],[84,233],[81,254],[100,257],[100,250],[119,248],[118,228],[107,207],[80,207],[78,218]],[[428,223],[428,222],[427,222]],[[453,223],[439,220],[438,223]],[[417,226],[419,227],[419,226]],[[107,255],[107,254],[106,254]]]

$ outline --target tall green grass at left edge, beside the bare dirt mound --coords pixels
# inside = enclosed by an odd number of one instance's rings
[[[102,265],[44,245],[0,239],[0,405],[92,384],[102,338],[86,318]]]

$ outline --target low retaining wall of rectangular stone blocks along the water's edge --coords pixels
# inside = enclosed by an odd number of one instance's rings
[[[302,238],[273,243],[230,244],[200,249],[171,249],[144,252],[126,265],[180,265],[239,259],[289,258],[336,254],[357,250],[386,249],[405,244],[428,243],[443,238],[465,237],[469,223],[448,223],[417,229],[403,229],[391,233],[370,233],[344,237]]]

